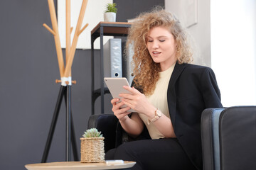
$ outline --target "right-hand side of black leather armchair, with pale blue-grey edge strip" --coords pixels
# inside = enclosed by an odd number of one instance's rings
[[[201,137],[204,170],[256,169],[256,106],[206,109]]]

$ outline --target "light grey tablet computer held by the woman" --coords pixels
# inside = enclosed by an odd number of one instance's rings
[[[107,88],[110,90],[110,94],[113,98],[120,98],[119,94],[130,94],[129,91],[123,88],[123,86],[129,86],[129,83],[125,77],[105,77],[105,84],[107,84]],[[127,107],[126,105],[121,108]],[[127,112],[135,112],[132,108]]]

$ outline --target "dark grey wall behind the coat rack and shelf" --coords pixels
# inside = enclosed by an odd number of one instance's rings
[[[147,11],[159,1],[117,0],[117,21],[127,21]],[[129,2],[129,3],[128,3]],[[56,4],[55,4],[56,5]],[[41,162],[48,130],[58,97],[60,79],[46,0],[0,1],[0,167],[25,169],[25,164]],[[72,111],[78,149],[80,136],[87,129],[90,116],[90,50],[77,50],[72,76]],[[100,52],[95,51],[95,63]],[[95,65],[99,67],[99,64]],[[99,72],[95,69],[95,77]],[[99,79],[95,84],[99,86]],[[110,113],[110,98],[105,98],[105,112]],[[100,113],[100,98],[95,103]],[[79,153],[79,151],[78,151]],[[65,161],[65,103],[60,109],[48,162]]]

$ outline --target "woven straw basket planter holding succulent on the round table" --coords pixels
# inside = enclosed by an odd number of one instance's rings
[[[104,137],[81,137],[81,162],[105,162]]]

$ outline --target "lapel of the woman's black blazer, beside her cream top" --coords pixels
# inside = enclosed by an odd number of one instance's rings
[[[175,124],[175,115],[176,115],[176,89],[175,84],[178,77],[181,75],[181,72],[186,67],[186,64],[178,64],[176,62],[174,67],[174,72],[171,74],[171,79],[169,81],[168,90],[167,90],[167,102],[169,107],[169,114],[171,117],[171,122],[174,126]]]

